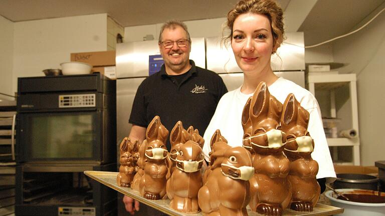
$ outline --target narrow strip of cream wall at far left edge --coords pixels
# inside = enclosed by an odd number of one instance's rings
[[[14,23],[0,16],[0,92],[14,95],[12,80],[12,59],[14,53]],[[0,98],[2,95],[0,95]],[[8,97],[6,97],[8,98]],[[11,99],[9,97],[8,99]]]

